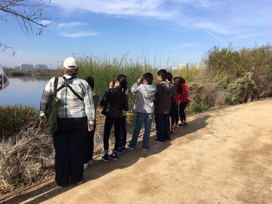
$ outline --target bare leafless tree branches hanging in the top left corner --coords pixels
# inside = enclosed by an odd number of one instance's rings
[[[51,0],[48,0],[48,2],[51,3]],[[38,27],[36,35],[42,35],[43,28],[47,28],[55,21],[47,17],[48,13],[44,13],[44,10],[47,8],[44,0],[31,3],[26,0],[0,0],[0,20],[4,20],[7,23],[8,18],[11,16],[17,20],[21,30],[27,37],[29,34],[34,33],[33,26]],[[2,42],[0,42],[0,47],[4,47],[3,51],[7,48],[13,49]]]

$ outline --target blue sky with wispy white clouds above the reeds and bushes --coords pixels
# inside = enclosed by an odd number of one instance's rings
[[[20,30],[15,19],[0,20],[1,42],[14,47],[0,63],[56,67],[73,54],[132,59],[156,65],[199,62],[214,45],[253,47],[272,41],[272,1],[213,0],[52,0],[57,19],[42,36]],[[48,22],[43,22],[48,23]]]

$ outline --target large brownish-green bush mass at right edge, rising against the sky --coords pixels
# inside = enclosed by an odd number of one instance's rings
[[[208,82],[220,82],[227,87],[251,72],[256,84],[255,96],[272,96],[272,46],[269,43],[237,50],[231,45],[221,49],[215,46],[206,53],[204,63]]]

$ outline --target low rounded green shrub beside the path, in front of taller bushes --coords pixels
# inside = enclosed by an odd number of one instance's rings
[[[233,103],[246,103],[248,100],[253,99],[256,88],[256,83],[252,79],[252,73],[245,73],[244,77],[236,79],[229,85]]]

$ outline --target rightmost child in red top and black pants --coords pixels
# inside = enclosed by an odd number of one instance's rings
[[[185,84],[185,79],[181,78],[181,87],[182,87],[182,94],[180,95],[180,119],[181,119],[181,124],[179,126],[185,127],[187,126],[186,122],[186,115],[185,115],[185,108],[188,104],[188,92],[189,92],[189,87],[187,84]]]

